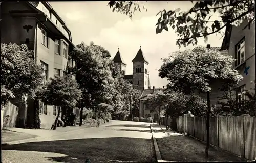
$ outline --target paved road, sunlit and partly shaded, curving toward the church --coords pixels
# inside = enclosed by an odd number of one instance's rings
[[[3,162],[154,162],[150,125],[113,121],[61,135],[2,146]]]

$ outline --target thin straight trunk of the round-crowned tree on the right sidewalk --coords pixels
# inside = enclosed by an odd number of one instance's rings
[[[210,145],[210,92],[207,91],[207,116],[206,116],[206,148],[205,157],[208,157]]]

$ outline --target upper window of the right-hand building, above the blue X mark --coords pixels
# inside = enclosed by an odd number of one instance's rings
[[[238,66],[245,61],[245,38],[236,44],[234,58],[236,59],[236,61],[234,61],[234,66]]]

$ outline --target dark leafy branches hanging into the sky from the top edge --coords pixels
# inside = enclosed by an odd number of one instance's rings
[[[195,3],[194,3],[195,2]],[[193,7],[186,12],[176,10],[162,10],[157,15],[156,33],[168,31],[168,26],[177,33],[177,45],[186,47],[189,44],[196,45],[197,39],[204,37],[205,42],[211,34],[221,33],[221,30],[230,25],[239,25],[243,19],[248,20],[248,28],[254,22],[254,6],[252,0],[223,0],[223,1],[191,1]],[[129,15],[141,11],[136,1],[110,1],[110,8],[113,12]],[[146,8],[143,6],[143,9]],[[147,11],[147,10],[146,10]],[[210,20],[211,14],[218,14],[220,19]]]

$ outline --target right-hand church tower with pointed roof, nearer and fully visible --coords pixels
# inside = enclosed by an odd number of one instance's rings
[[[148,88],[148,64],[149,62],[146,60],[143,52],[141,50],[141,46],[137,55],[132,60],[133,62],[133,87],[138,90],[143,90]]]

